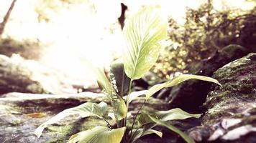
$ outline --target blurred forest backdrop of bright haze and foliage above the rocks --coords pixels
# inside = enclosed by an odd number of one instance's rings
[[[109,64],[120,57],[124,47],[124,20],[145,4],[155,3],[1,0],[0,54],[18,63],[27,59],[37,61],[73,87],[90,87],[95,83],[84,59],[91,59],[108,71]],[[169,16],[168,39],[147,78],[149,81],[161,82],[175,73],[191,73],[195,63],[211,58],[229,44],[255,52],[255,0],[180,0],[157,4]],[[29,67],[42,71],[35,65],[29,62]]]

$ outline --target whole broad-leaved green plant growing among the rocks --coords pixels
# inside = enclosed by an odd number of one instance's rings
[[[173,119],[187,119],[190,117],[200,117],[200,114],[189,114],[181,109],[170,109],[168,111],[155,112],[154,114],[140,113],[143,105],[155,94],[155,92],[165,87],[172,87],[188,79],[201,79],[219,84],[216,79],[202,77],[197,75],[183,74],[175,79],[157,84],[147,91],[131,92],[132,82],[140,79],[155,64],[160,51],[160,41],[165,39],[167,34],[168,21],[165,16],[160,16],[160,10],[155,6],[147,6],[138,14],[132,16],[124,26],[124,39],[127,48],[124,49],[123,62],[115,62],[111,65],[110,81],[104,71],[94,69],[98,77],[98,84],[103,89],[104,94],[109,99],[113,113],[109,113],[107,104],[86,102],[78,107],[66,109],[60,112],[52,119],[40,125],[35,131],[37,137],[40,137],[42,130],[49,124],[58,122],[60,119],[70,114],[79,114],[81,117],[96,116],[104,119],[108,127],[95,127],[86,131],[78,132],[70,137],[69,143],[76,142],[135,142],[147,134],[157,134],[162,137],[162,133],[154,129],[157,124],[167,127],[173,132],[183,137],[186,142],[193,142],[193,139],[181,132],[178,128],[168,124],[166,121]],[[125,96],[127,95],[127,96]],[[132,99],[145,95],[145,102],[141,104],[140,109],[128,124],[128,107]],[[112,116],[114,115],[114,116]],[[137,118],[137,116],[139,117]],[[116,122],[116,128],[109,124],[111,117]],[[135,127],[136,125],[136,127]]]

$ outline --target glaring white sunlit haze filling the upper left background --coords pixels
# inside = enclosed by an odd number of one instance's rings
[[[73,4],[67,9],[47,11],[50,22],[39,21],[34,0],[19,0],[15,5],[10,21],[6,24],[4,37],[10,36],[22,41],[40,41],[44,46],[40,62],[65,74],[73,75],[83,81],[91,80],[91,73],[83,60],[90,59],[97,66],[108,66],[113,56],[120,56],[122,30],[118,24],[121,14],[121,2],[128,6],[127,14],[136,12],[142,5],[159,4],[168,16],[179,24],[184,24],[186,7],[196,9],[206,0],[179,1],[104,1],[85,0]],[[12,1],[1,0],[0,21],[6,14]],[[221,10],[224,4],[232,7],[250,9],[252,6],[244,0],[215,0],[214,8]]]

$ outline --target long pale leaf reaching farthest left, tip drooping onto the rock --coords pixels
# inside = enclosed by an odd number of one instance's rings
[[[37,137],[40,137],[42,134],[42,131],[50,124],[54,124],[56,122],[59,122],[61,119],[64,119],[65,117],[68,117],[70,115],[78,114],[80,117],[85,118],[89,116],[96,116],[96,117],[106,117],[107,116],[107,110],[106,110],[106,103],[101,102],[100,104],[86,102],[84,104],[79,105],[78,107],[73,107],[70,109],[65,109],[63,112],[60,112],[55,117],[52,117],[51,119],[47,120],[47,122],[40,125],[40,127],[37,127],[35,130],[35,134]]]

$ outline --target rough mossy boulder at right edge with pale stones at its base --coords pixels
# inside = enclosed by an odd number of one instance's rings
[[[223,87],[207,96],[202,126],[188,131],[196,142],[256,142],[256,54],[214,72]]]

